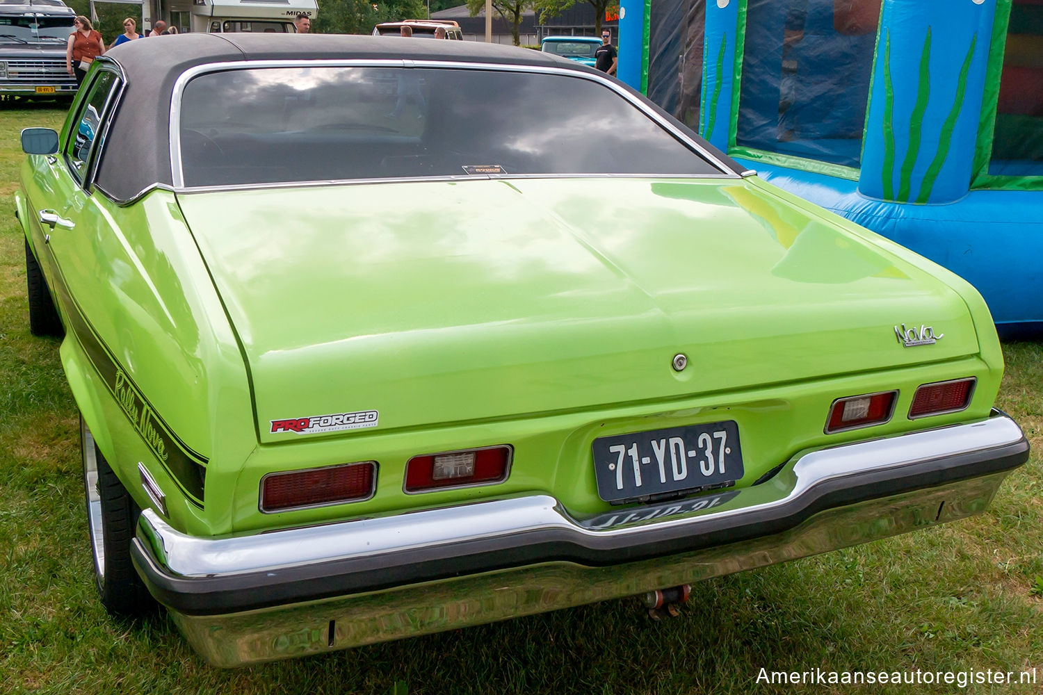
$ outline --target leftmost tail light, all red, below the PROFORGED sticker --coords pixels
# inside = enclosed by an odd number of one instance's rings
[[[261,511],[358,502],[373,496],[377,462],[269,473],[261,480]]]

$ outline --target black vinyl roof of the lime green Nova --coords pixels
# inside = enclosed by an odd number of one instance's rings
[[[469,41],[245,32],[185,33],[130,41],[100,58],[102,63],[118,64],[126,82],[105,139],[105,151],[95,182],[119,201],[130,200],[156,183],[172,185],[171,93],[177,78],[187,70],[214,63],[246,60],[350,59],[451,60],[591,71],[574,60],[531,49]],[[637,96],[650,108],[662,113],[645,97]],[[690,131],[689,134],[698,139]],[[723,162],[729,162],[708,144],[703,145]],[[741,171],[737,165],[734,167]]]

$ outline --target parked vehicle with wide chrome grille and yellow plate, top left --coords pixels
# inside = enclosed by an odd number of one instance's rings
[[[75,17],[60,0],[0,0],[0,95],[76,93],[65,63]]]

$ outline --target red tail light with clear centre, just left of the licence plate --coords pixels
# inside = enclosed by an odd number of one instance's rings
[[[413,456],[406,464],[406,492],[503,482],[511,453],[512,448],[505,444]]]

